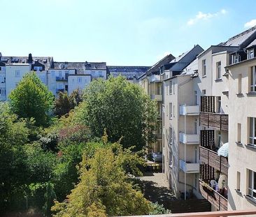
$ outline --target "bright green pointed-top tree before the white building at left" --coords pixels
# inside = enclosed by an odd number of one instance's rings
[[[17,87],[10,92],[9,98],[11,110],[19,118],[34,118],[36,126],[48,124],[53,96],[36,73],[24,75]]]

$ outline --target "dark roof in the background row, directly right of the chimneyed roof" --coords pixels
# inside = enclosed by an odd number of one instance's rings
[[[52,69],[76,69],[78,74],[85,74],[85,70],[106,70],[106,62],[53,62]]]

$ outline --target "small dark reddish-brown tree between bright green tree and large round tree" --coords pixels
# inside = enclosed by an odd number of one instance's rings
[[[55,114],[58,117],[69,113],[71,110],[68,93],[59,91],[57,98],[55,98]]]

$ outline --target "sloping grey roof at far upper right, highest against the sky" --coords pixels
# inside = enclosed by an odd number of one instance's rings
[[[229,38],[224,43],[220,43],[219,45],[222,46],[242,46],[243,43],[246,43],[246,41],[251,37],[254,36],[256,33],[256,26],[252,27],[246,31],[243,31],[236,36],[233,36],[232,38]]]

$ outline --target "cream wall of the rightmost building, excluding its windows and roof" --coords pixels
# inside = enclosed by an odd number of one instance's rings
[[[248,144],[248,117],[256,117],[255,95],[248,95],[250,67],[256,60],[239,63],[229,68],[229,209],[255,209],[256,201],[246,199],[248,194],[248,169],[256,172],[256,149]],[[241,75],[241,95],[239,93]],[[238,141],[238,127],[241,124],[241,144]],[[236,192],[237,172],[241,173],[240,193]]]

